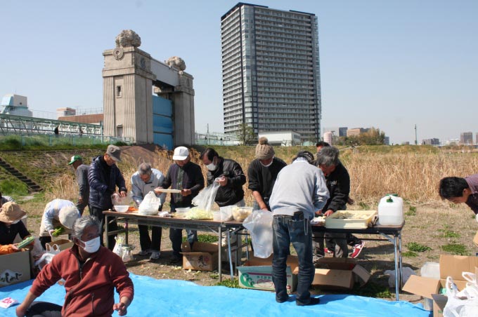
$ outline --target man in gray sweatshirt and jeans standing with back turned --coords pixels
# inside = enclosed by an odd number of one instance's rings
[[[279,303],[289,298],[285,269],[290,243],[300,267],[295,303],[304,306],[319,302],[309,292],[315,273],[310,220],[327,202],[329,191],[323,172],[313,164],[313,154],[299,151],[292,164],[280,170],[269,201],[273,213],[272,281]]]

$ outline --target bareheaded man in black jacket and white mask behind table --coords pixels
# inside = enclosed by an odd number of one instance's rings
[[[222,158],[211,147],[202,151],[200,159],[207,168],[207,185],[209,186],[212,182],[218,182],[221,185],[214,199],[219,207],[245,206],[243,168],[236,161]]]

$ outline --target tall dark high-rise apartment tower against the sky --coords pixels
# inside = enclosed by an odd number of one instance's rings
[[[221,17],[224,133],[290,131],[319,140],[321,76],[312,13],[239,3]]]

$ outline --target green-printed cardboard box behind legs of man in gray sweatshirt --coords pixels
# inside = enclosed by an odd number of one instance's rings
[[[294,292],[297,288],[297,275],[292,274],[299,266],[297,257],[289,255],[285,270],[287,291]],[[276,290],[272,281],[272,256],[267,259],[251,257],[242,267],[238,267],[239,285],[242,288],[254,290]]]

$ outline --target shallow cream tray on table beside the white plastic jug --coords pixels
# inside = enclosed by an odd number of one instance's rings
[[[326,228],[359,228],[365,229],[377,215],[377,210],[337,210],[325,218]]]

